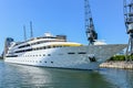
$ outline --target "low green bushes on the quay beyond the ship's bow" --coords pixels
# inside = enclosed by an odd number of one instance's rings
[[[133,55],[132,56],[127,56],[127,59],[132,59],[133,61]],[[114,55],[112,56],[109,61],[126,61],[125,55]]]

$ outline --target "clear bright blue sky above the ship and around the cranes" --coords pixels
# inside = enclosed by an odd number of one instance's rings
[[[123,0],[90,0],[99,38],[109,44],[127,43]],[[23,25],[30,37],[44,32],[64,34],[69,41],[88,44],[84,30],[84,0],[0,0],[0,53],[4,38],[23,41]]]

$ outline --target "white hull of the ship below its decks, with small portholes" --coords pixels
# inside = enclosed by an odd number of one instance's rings
[[[19,54],[18,57],[6,57],[4,62],[72,69],[98,69],[99,65],[126,45],[92,45],[78,47],[48,48]],[[96,62],[89,57],[94,55]]]

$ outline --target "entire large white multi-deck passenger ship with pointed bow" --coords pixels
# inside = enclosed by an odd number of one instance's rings
[[[68,42],[64,35],[53,36],[45,33],[44,36],[25,42],[7,38],[4,62],[44,67],[96,69],[101,63],[125,46],[124,44],[85,46]]]

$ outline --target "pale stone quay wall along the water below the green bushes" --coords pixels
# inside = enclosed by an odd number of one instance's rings
[[[100,67],[133,69],[133,62],[105,62],[101,64]]]

